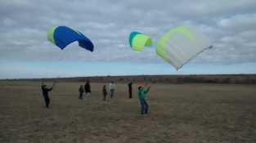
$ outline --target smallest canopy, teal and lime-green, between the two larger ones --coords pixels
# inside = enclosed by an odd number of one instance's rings
[[[129,37],[130,47],[134,51],[142,51],[144,47],[152,46],[152,39],[146,35],[138,32],[132,32]]]

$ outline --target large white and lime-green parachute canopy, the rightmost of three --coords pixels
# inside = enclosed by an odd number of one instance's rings
[[[182,68],[200,52],[211,48],[211,42],[191,25],[170,29],[157,42],[156,53],[176,69]]]

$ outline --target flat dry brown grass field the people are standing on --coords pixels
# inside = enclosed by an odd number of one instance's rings
[[[141,117],[126,84],[107,101],[103,83],[80,101],[80,84],[57,83],[46,109],[40,83],[0,82],[0,142],[256,142],[255,85],[152,84]]]

